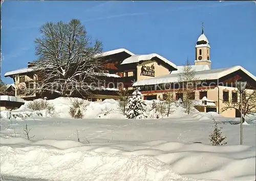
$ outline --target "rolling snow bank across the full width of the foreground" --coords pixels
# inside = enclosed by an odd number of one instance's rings
[[[84,145],[56,140],[32,142],[20,138],[1,138],[1,143],[1,173],[12,176],[51,180],[255,178],[255,152],[244,145],[210,146],[155,140],[133,147],[132,144]]]

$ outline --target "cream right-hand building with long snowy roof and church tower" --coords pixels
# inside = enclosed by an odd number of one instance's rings
[[[247,81],[247,91],[253,92],[256,89],[256,77],[240,65],[211,69],[210,45],[203,27],[195,48],[196,59],[194,65],[190,65],[195,71],[194,79],[197,82],[192,96],[193,99],[198,100],[195,107],[203,112],[216,111],[224,117],[240,117],[238,109],[230,108],[223,111],[223,108],[228,103],[239,100],[236,80]],[[160,77],[138,80],[133,86],[140,87],[144,99],[147,100],[164,100],[169,92],[173,93],[173,99],[182,100],[183,90],[180,77],[183,72],[184,66],[177,66],[177,71]]]

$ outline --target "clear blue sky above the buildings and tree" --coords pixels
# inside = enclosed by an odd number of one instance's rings
[[[47,21],[79,19],[103,50],[157,53],[176,65],[195,60],[195,44],[209,40],[212,69],[241,65],[256,75],[256,6],[251,1],[5,1],[1,77],[36,59],[34,40]]]

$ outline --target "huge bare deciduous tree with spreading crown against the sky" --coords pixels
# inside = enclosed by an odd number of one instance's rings
[[[91,90],[84,83],[99,80],[102,43],[96,40],[93,44],[78,19],[67,24],[47,22],[40,33],[42,37],[35,40],[39,56],[34,66],[38,75],[36,92],[50,91],[63,97],[90,95]]]

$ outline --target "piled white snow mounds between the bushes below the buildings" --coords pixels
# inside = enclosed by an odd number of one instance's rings
[[[74,100],[82,100],[80,98],[56,98],[53,100],[47,100],[47,102],[54,105],[55,113],[54,115],[47,114],[47,110],[40,110],[40,111],[34,111],[27,108],[27,104],[31,101],[25,101],[25,104],[22,105],[20,108],[11,111],[11,114],[21,114],[23,116],[21,117],[30,117],[30,116],[42,116],[42,117],[55,117],[55,118],[71,118],[69,111],[70,107],[72,106],[72,101]],[[37,99],[38,100],[38,99]],[[42,99],[39,99],[42,100]],[[146,106],[146,114],[148,115],[148,118],[151,119],[157,119],[157,116],[159,118],[167,118],[167,116],[159,115],[159,112],[155,112],[155,110],[152,110],[152,104],[153,102],[160,103],[159,100],[145,100]],[[88,103],[88,106],[86,109],[83,110],[84,119],[94,119],[94,118],[104,118],[104,119],[125,119],[125,116],[123,116],[122,112],[120,111],[118,107],[118,101],[114,99],[105,99],[102,102],[90,102],[86,101]],[[169,115],[169,117],[181,117],[184,114],[185,109],[180,103],[173,103],[172,108],[173,112]],[[196,109],[194,112],[198,112]],[[1,111],[1,114],[4,115],[4,118],[8,118],[8,113]],[[27,115],[27,116],[26,116]],[[30,115],[30,116],[28,116]],[[12,117],[14,118],[14,117]],[[15,118],[14,118],[15,119]]]

